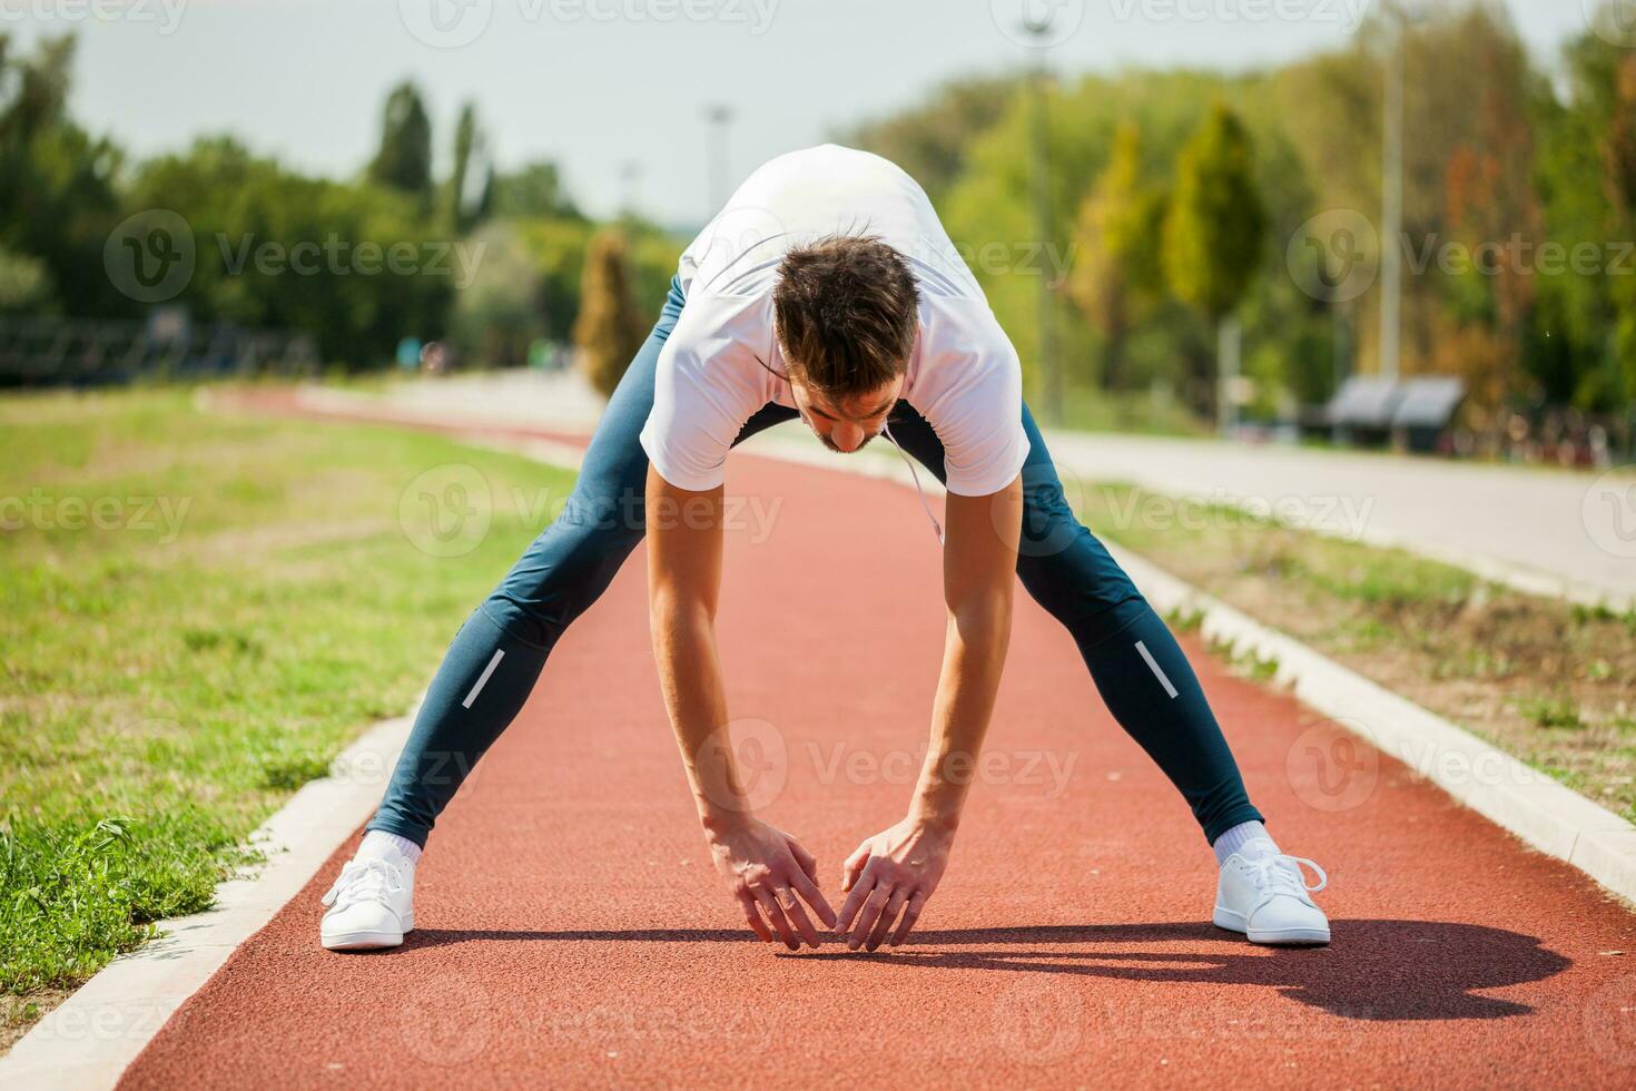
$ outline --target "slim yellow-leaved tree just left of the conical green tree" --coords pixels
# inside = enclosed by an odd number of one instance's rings
[[[1126,337],[1165,294],[1165,195],[1142,178],[1142,132],[1119,126],[1112,160],[1080,206],[1068,294],[1103,335],[1103,386],[1126,386]]]

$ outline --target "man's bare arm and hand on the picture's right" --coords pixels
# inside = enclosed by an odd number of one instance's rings
[[[931,715],[931,748],[908,816],[847,857],[839,931],[854,950],[903,942],[949,862],[965,793],[983,749],[1011,641],[1021,478],[991,496],[947,499],[942,594],[949,628]],[[898,913],[901,911],[901,919]]]

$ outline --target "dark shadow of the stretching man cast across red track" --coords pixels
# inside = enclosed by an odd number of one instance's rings
[[[1446,921],[1333,921],[1328,947],[1265,950],[1204,923],[1045,924],[926,929],[906,947],[875,954],[782,955],[813,963],[864,959],[893,967],[1068,973],[1129,981],[1245,985],[1346,1019],[1503,1019],[1533,1009],[1474,994],[1561,973],[1572,962],[1533,936]],[[463,942],[753,941],[744,929],[456,931],[417,929],[398,950]],[[1186,944],[1180,950],[1085,950],[1090,944]],[[954,950],[939,950],[952,947]],[[988,950],[964,950],[988,947]],[[1242,952],[1242,954],[1240,954]],[[1253,952],[1253,954],[1252,954]]]

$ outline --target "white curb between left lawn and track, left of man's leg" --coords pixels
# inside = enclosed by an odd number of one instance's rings
[[[290,797],[250,837],[268,854],[267,865],[218,887],[211,909],[162,921],[160,939],[115,959],[46,1012],[0,1057],[0,1088],[101,1091],[118,1083],[172,1012],[368,819],[412,723],[409,715],[375,725],[342,751],[329,777]]]

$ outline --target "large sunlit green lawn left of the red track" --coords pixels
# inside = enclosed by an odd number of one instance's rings
[[[203,414],[177,389],[10,396],[0,433],[0,991],[18,996],[208,908],[255,826],[404,712],[573,483],[440,437]]]

